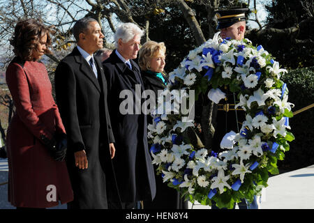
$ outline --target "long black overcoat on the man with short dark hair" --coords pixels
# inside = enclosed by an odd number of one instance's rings
[[[107,208],[107,191],[119,199],[109,149],[114,137],[107,109],[107,82],[101,62],[94,59],[98,79],[77,47],[55,72],[57,105],[68,135],[66,162],[74,192],[69,208]],[[82,150],[87,153],[87,169],[75,167],[74,153]]]

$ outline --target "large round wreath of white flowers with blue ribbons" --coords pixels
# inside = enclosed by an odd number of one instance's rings
[[[192,144],[186,134],[195,129],[194,121],[185,114],[159,114],[149,125],[149,141],[153,164],[163,182],[179,190],[191,202],[198,201],[218,208],[233,208],[241,199],[253,201],[255,194],[267,187],[269,173],[278,174],[277,160],[283,160],[294,136],[290,129],[292,103],[287,102],[288,90],[281,81],[287,70],[262,46],[254,47],[250,40],[213,39],[190,51],[179,68],[170,72],[170,83],[158,101],[174,90],[194,90],[195,98],[185,93],[170,102],[197,100],[208,93],[218,103],[225,98],[219,89],[229,86],[237,92],[235,108],[246,112],[240,132],[229,132],[220,147],[225,151],[209,153],[209,149]],[[160,98],[161,97],[161,98]],[[167,98],[167,97],[166,97]],[[173,106],[172,106],[173,109]]]

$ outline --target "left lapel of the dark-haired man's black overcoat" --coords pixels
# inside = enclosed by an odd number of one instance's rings
[[[89,78],[91,82],[95,85],[96,89],[100,92],[100,86],[98,79],[96,78],[93,70],[91,69],[91,66],[89,66],[89,63],[84,59],[80,51],[75,47],[73,49],[73,54],[75,55],[75,60],[77,63],[80,63],[80,70],[82,73]]]

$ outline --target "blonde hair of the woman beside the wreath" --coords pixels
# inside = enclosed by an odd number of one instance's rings
[[[166,47],[165,43],[157,43],[155,41],[147,41],[142,45],[138,54],[138,65],[142,70],[149,70],[150,68],[150,59],[158,56],[161,52],[165,54]]]

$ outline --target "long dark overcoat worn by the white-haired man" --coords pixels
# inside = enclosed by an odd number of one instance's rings
[[[119,98],[121,91],[130,90],[135,95],[135,85],[144,90],[140,68],[130,60],[130,70],[117,56],[115,50],[103,61],[108,84],[108,107],[114,132],[116,154],[114,171],[121,201],[152,200],[156,194],[154,167],[147,146],[147,116],[142,114],[121,114],[119,107],[125,98]],[[137,85],[138,86],[138,85]],[[142,92],[141,92],[142,93]]]

